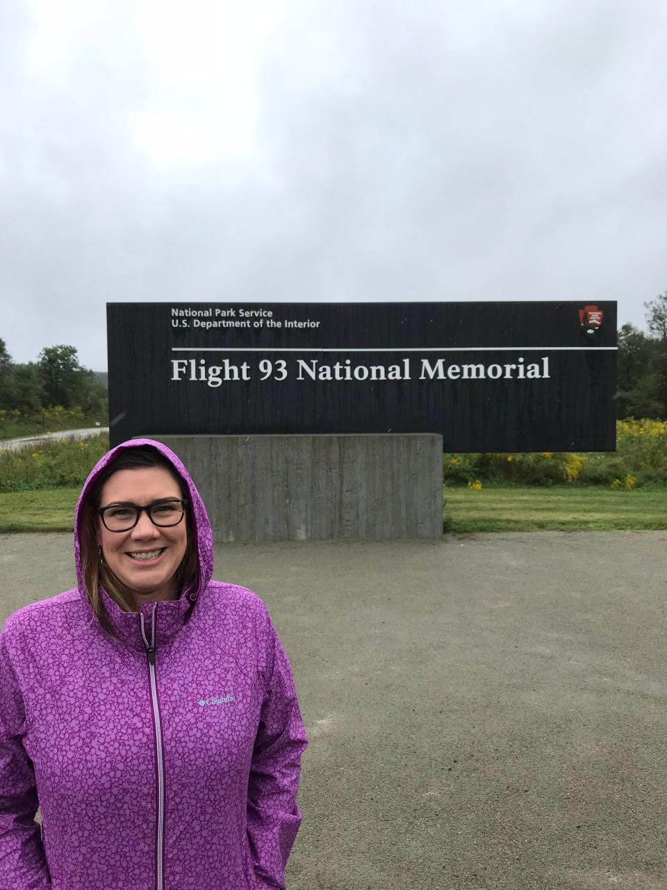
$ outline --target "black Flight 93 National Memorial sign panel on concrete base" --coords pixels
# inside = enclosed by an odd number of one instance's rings
[[[442,433],[446,451],[615,449],[615,303],[107,312],[112,444],[150,433]]]

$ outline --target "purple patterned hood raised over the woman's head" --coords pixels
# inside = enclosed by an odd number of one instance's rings
[[[204,501],[200,497],[199,492],[195,487],[195,483],[190,479],[190,475],[185,466],[181,463],[181,459],[177,457],[171,449],[168,449],[166,445],[163,445],[162,442],[154,441],[153,439],[131,439],[129,441],[121,442],[116,448],[108,451],[104,457],[92,467],[91,472],[88,474],[88,478],[84,482],[81,494],[76,501],[74,512],[74,561],[76,566],[76,586],[78,587],[79,593],[84,596],[84,599],[86,600],[88,597],[84,590],[79,541],[79,522],[82,515],[82,506],[85,503],[86,498],[89,496],[92,482],[95,481],[99,473],[114,459],[114,457],[117,457],[121,451],[146,445],[156,449],[162,457],[165,457],[165,459],[169,461],[175,472],[181,476],[181,479],[185,482],[188,488],[192,522],[189,533],[195,535],[197,539],[197,555],[199,557],[199,579],[197,587],[190,587],[186,593],[190,603],[195,603],[197,601],[197,597],[206,589],[206,587],[208,587],[213,575],[213,532],[211,530],[211,522],[209,522],[208,516],[206,515]]]

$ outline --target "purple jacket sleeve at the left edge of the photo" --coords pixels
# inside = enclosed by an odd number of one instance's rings
[[[0,890],[51,886],[39,825],[32,761],[23,747],[25,711],[6,625],[0,634]]]

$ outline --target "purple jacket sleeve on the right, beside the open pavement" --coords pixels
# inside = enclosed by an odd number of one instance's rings
[[[261,887],[285,890],[285,864],[301,824],[296,792],[308,739],[289,661],[266,611],[261,639],[264,699],[250,765],[247,832]]]

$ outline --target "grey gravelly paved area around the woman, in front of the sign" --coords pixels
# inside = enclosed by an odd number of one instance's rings
[[[309,733],[289,890],[667,888],[667,532],[229,544]],[[0,619],[73,579],[0,536]]]

